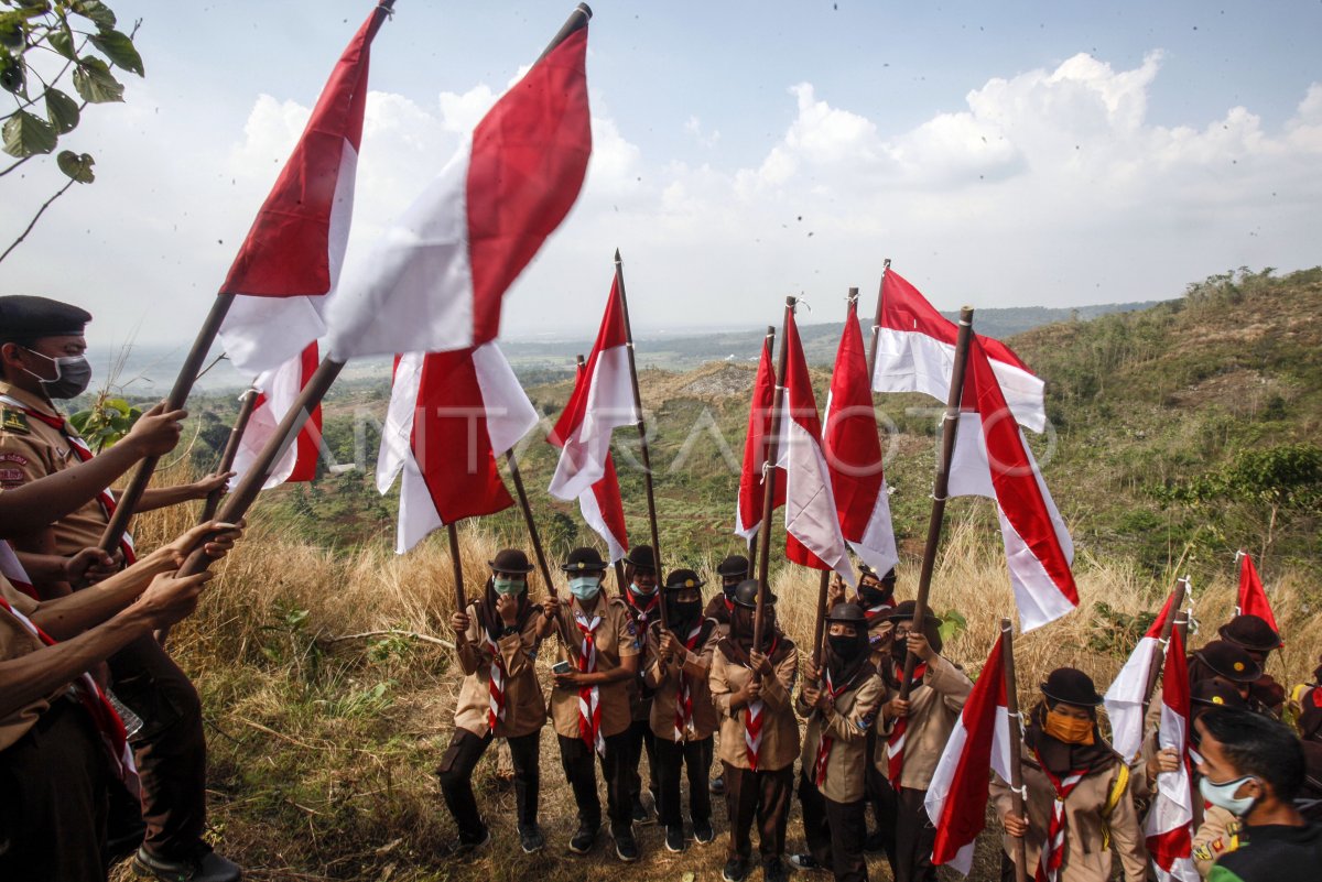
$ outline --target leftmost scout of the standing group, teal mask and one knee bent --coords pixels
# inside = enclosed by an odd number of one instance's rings
[[[508,548],[496,555],[490,568],[483,597],[451,617],[464,684],[455,706],[455,734],[438,774],[460,845],[485,845],[490,829],[477,812],[473,768],[492,741],[504,738],[514,761],[518,838],[531,854],[546,845],[537,825],[546,698],[534,668],[542,607],[527,598],[533,566],[524,552]]]

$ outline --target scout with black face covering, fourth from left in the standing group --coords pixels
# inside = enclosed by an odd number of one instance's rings
[[[717,837],[711,828],[713,733],[717,709],[711,704],[707,677],[715,652],[717,623],[702,615],[702,580],[691,569],[676,569],[666,577],[666,622],[652,625],[644,652],[644,681],[654,689],[652,735],[657,746],[660,800],[657,815],[665,825],[665,846],[683,850],[683,816],[680,800],[680,772],[689,774],[689,816],[693,838],[707,844]]]

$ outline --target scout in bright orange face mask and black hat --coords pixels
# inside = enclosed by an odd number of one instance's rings
[[[1010,786],[993,776],[992,799],[1005,823],[1002,878],[1014,878],[1010,836],[1022,836],[1030,878],[1040,866],[1059,882],[1110,879],[1110,848],[1120,853],[1125,882],[1147,878],[1129,766],[1097,729],[1101,696],[1083,671],[1056,668],[1042,684],[1043,700],[1023,733],[1027,820],[1011,815]]]

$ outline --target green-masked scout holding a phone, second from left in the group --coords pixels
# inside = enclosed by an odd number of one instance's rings
[[[639,676],[639,635],[624,601],[605,595],[605,561],[595,548],[575,548],[561,569],[568,574],[570,597],[547,609],[541,634],[554,630],[559,636],[551,722],[578,804],[579,825],[570,850],[590,852],[602,827],[595,754],[602,758],[615,853],[621,861],[636,861],[625,759],[628,681]]]

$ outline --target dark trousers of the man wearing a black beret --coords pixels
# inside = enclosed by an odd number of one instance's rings
[[[206,735],[197,689],[151,635],[108,664],[115,695],[143,718],[132,739],[143,782],[143,844],[157,857],[185,857],[206,828]]]

